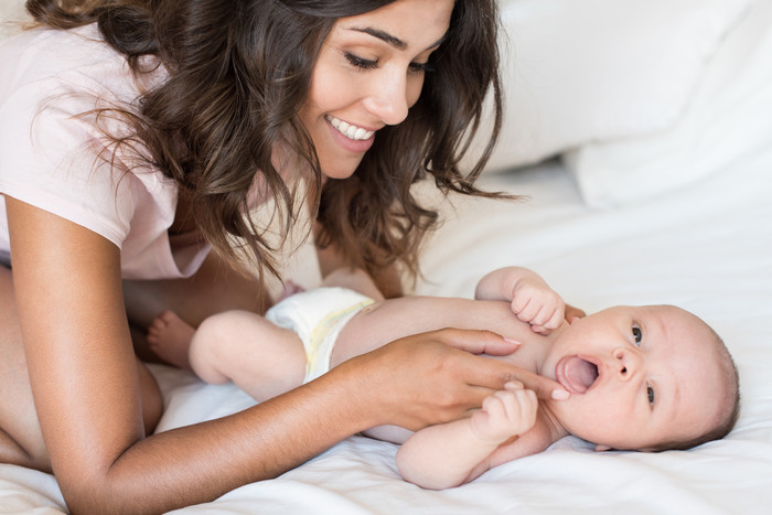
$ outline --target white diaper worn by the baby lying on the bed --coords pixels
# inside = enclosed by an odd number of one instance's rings
[[[296,293],[268,310],[266,319],[300,336],[305,347],[303,383],[330,369],[330,357],[343,326],[373,299],[345,288],[317,288]]]

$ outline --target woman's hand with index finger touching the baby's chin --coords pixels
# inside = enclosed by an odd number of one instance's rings
[[[537,397],[561,399],[568,393],[556,382],[500,360],[517,344],[490,331],[443,329],[407,336],[352,358],[333,374],[360,376],[350,401],[364,403],[372,426],[396,425],[417,430],[455,420],[480,408],[485,397],[512,380]]]

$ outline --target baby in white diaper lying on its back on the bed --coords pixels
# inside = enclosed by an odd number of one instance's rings
[[[453,326],[519,342],[513,354],[491,357],[557,380],[569,399],[537,400],[512,382],[469,418],[415,433],[395,427],[366,432],[403,443],[403,478],[427,489],[472,481],[567,434],[598,451],[687,449],[722,438],[738,417],[729,352],[705,322],[673,305],[614,307],[567,322],[560,296],[518,267],[483,277],[475,300],[384,300],[360,271],[339,270],[325,285],[285,299],[265,318],[226,312],[195,332],[167,312],[149,341],[179,365],[190,360],[203,380],[233,380],[257,400],[410,334]]]

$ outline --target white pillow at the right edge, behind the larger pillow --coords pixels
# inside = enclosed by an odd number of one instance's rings
[[[586,202],[611,207],[676,191],[772,144],[772,0],[727,34],[687,109],[657,133],[585,144],[564,158]]]

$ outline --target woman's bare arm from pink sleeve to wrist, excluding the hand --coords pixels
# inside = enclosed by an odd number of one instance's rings
[[[211,501],[367,425],[368,409],[350,394],[356,376],[337,374],[234,417],[146,439],[118,249],[57,216],[7,202],[30,380],[74,513],[160,512]]]

